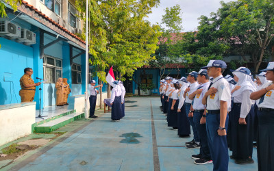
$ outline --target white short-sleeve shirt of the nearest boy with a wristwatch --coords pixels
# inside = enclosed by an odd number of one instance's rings
[[[223,75],[216,77],[212,81],[212,86],[210,88],[216,88],[217,92],[214,95],[210,95],[207,98],[206,109],[208,110],[218,110],[220,109],[220,101],[227,102],[227,111],[231,109],[231,90],[229,83],[223,78]]]

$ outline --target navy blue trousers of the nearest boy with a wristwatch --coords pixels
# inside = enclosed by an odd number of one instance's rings
[[[225,120],[227,129],[228,116]],[[219,136],[218,129],[220,126],[220,114],[206,115],[206,131],[208,133],[208,146],[210,147],[211,159],[213,161],[213,170],[228,170],[228,149],[227,137]]]

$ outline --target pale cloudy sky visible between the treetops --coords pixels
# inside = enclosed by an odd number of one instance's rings
[[[236,0],[223,0],[224,2]],[[211,12],[216,12],[221,8],[221,0],[160,0],[158,8],[153,8],[152,14],[149,14],[148,21],[152,24],[161,23],[164,9],[171,8],[177,4],[182,9],[182,26],[186,31],[196,31],[199,25],[198,18],[201,15],[210,16]]]

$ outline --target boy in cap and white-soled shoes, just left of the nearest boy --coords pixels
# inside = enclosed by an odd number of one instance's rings
[[[197,81],[200,83],[199,88],[195,92],[189,95],[190,99],[193,99],[193,104],[190,107],[193,110],[193,121],[200,138],[200,153],[199,155],[192,155],[192,159],[195,164],[212,163],[210,148],[208,147],[208,137],[206,133],[206,105],[201,103],[204,94],[208,91],[210,86],[208,72],[205,69],[199,70]],[[196,146],[191,144],[186,148],[195,148]]]

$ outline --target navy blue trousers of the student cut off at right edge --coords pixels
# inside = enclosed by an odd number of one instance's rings
[[[274,111],[258,111],[259,171],[274,170]]]

